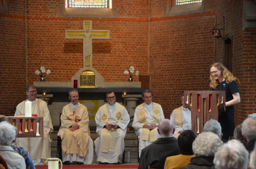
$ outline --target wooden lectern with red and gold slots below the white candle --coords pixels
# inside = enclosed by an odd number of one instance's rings
[[[44,117],[7,117],[17,127],[19,137],[43,137]]]

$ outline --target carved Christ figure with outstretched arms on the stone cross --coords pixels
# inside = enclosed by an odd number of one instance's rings
[[[85,37],[85,66],[90,66],[90,56],[91,56],[91,43],[90,43],[90,37],[91,35],[97,35],[97,36],[104,36],[105,34],[92,34],[89,32],[89,28],[86,28],[86,32],[84,32],[83,34],[72,34],[70,33],[70,35],[84,35]]]

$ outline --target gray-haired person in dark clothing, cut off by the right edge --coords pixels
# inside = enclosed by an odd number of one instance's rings
[[[249,153],[254,148],[256,141],[256,118],[248,117],[242,123],[242,136],[244,138],[244,142],[246,143],[246,150]]]

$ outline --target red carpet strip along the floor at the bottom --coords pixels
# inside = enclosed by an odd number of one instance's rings
[[[36,169],[48,169],[48,166],[47,165],[37,165],[35,166]],[[59,166],[60,168],[60,166]],[[108,164],[108,165],[100,165],[100,164],[97,164],[97,165],[63,165],[62,167],[63,169],[66,169],[66,168],[138,168],[138,165],[111,165],[111,164]]]

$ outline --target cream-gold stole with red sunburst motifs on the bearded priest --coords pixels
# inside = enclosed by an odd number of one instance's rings
[[[122,114],[123,114],[123,106],[116,102],[116,121],[121,121]],[[101,122],[108,124],[109,121],[109,113],[107,104],[104,104],[100,108],[101,114]],[[116,143],[116,130],[111,129],[108,130],[107,128],[103,128],[101,132],[101,152],[114,152],[115,143]]]

